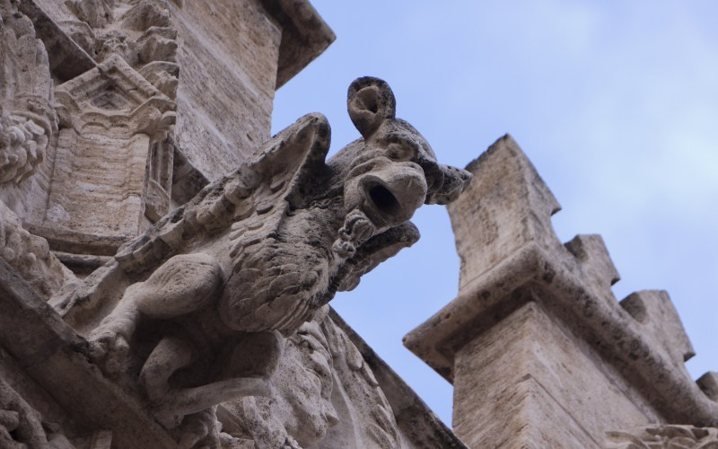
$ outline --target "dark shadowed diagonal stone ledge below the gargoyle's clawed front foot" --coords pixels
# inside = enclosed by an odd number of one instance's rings
[[[68,416],[88,430],[112,430],[113,445],[118,447],[176,447],[138,400],[88,362],[87,342],[4,260],[0,311],[0,345]]]

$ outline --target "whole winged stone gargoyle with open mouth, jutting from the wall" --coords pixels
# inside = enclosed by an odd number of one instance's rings
[[[416,242],[416,209],[451,202],[470,180],[396,119],[384,81],[355,80],[347,103],[363,138],[325,161],[327,119],[302,117],[53,300],[165,427],[269,395],[283,336]]]

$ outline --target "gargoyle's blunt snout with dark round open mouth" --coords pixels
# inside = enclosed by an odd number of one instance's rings
[[[377,227],[399,225],[424,204],[427,185],[416,163],[390,163],[362,176],[363,209]]]

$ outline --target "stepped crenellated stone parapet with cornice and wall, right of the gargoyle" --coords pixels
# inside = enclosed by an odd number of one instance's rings
[[[600,236],[558,241],[558,203],[511,137],[468,170],[476,180],[449,206],[459,296],[405,338],[454,384],[457,434],[468,445],[600,447],[622,425],[715,426],[711,378],[687,374],[693,349],[668,295],[616,301]]]

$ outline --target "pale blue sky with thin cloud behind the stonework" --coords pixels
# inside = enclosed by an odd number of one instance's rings
[[[312,4],[337,41],[277,92],[274,132],[320,111],[336,152],[359,136],[346,88],[374,75],[442,163],[510,133],[563,207],[561,240],[602,234],[617,298],[668,290],[688,370],[718,371],[718,2]],[[332,304],[451,423],[451,385],[401,338],[456,295],[459,261],[443,207],[413,221],[421,241]]]

